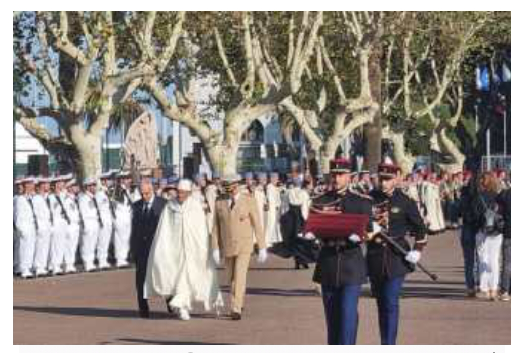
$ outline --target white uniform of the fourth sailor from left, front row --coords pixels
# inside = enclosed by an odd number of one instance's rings
[[[66,212],[70,218],[70,224],[68,225],[65,241],[66,272],[76,271],[75,260],[77,247],[79,246],[79,236],[81,233],[80,210],[77,206],[76,199],[77,196],[75,194],[67,193],[64,201]]]

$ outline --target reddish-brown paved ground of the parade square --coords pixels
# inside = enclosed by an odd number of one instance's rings
[[[510,303],[464,296],[454,233],[430,237],[424,264],[439,274],[408,276],[401,301],[400,344],[510,345]],[[136,317],[133,270],[13,281],[13,343],[19,344],[324,344],[321,299],[312,270],[292,270],[276,257],[252,264],[242,321],[200,313],[176,320],[161,300],[153,318]],[[224,273],[221,273],[224,281]],[[225,283],[225,282],[222,282]],[[378,344],[376,304],[360,301],[358,343]]]

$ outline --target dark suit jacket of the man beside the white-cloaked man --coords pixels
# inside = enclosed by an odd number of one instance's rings
[[[154,197],[152,206],[147,215],[143,214],[144,201],[139,200],[132,204],[132,230],[131,230],[131,256],[134,261],[147,262],[152,240],[160,215],[165,207],[166,200],[158,196]]]

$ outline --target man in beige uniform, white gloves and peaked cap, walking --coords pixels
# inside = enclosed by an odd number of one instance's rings
[[[217,265],[222,257],[231,284],[231,317],[241,320],[246,290],[246,274],[253,251],[252,234],[259,247],[258,262],[267,258],[265,234],[256,200],[239,192],[239,175],[223,178],[226,194],[217,199],[212,229],[213,259]]]

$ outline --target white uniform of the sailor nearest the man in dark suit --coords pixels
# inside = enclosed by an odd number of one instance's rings
[[[131,223],[132,223],[132,203],[134,202],[133,193],[126,187],[121,187],[126,196],[123,202],[116,201],[116,222],[114,233],[114,252],[117,266],[126,266],[127,256],[129,255]]]

